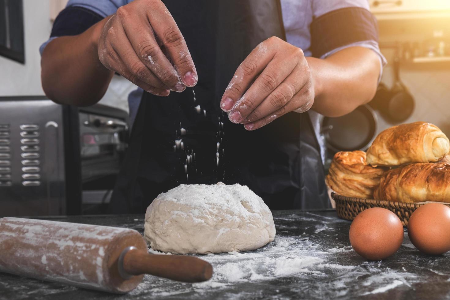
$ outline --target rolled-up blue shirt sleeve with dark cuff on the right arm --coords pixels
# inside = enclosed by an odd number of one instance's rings
[[[378,46],[378,24],[367,0],[312,0],[311,52],[326,58],[342,49],[360,46],[373,50],[380,60],[381,80],[387,64]]]

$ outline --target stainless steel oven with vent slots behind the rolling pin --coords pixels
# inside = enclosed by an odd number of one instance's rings
[[[99,104],[0,98],[0,216],[81,214],[83,186],[114,185],[126,123],[126,112]]]

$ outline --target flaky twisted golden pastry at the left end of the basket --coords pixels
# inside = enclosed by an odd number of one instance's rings
[[[366,163],[363,151],[338,152],[334,155],[325,181],[334,192],[358,198],[372,198],[385,172]]]

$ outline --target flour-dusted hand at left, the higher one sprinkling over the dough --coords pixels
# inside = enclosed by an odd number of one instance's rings
[[[197,83],[183,35],[160,0],[121,6],[103,26],[101,63],[149,93],[167,96]]]

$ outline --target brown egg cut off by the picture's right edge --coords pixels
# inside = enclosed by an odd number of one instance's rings
[[[414,210],[408,236],[419,251],[439,255],[450,250],[450,207],[428,203]]]

